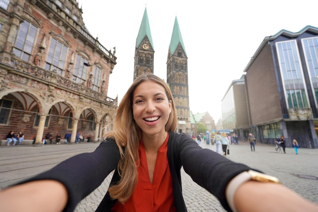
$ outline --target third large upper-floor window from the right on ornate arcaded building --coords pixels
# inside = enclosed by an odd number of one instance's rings
[[[67,52],[67,46],[57,41],[55,38],[51,38],[45,69],[48,71],[56,70],[59,75],[62,75],[65,67]]]

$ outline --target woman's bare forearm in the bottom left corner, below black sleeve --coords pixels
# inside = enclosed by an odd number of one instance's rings
[[[56,180],[37,180],[0,192],[0,211],[59,212],[65,208],[68,192]]]

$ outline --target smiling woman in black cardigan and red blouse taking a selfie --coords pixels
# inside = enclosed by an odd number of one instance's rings
[[[74,211],[109,174],[113,177],[108,192],[96,212],[187,211],[181,167],[227,211],[278,211],[278,203],[279,211],[318,210],[318,205],[284,187],[276,177],[174,132],[177,121],[169,85],[150,73],[139,76],[118,106],[112,131],[94,152],[69,158],[2,190],[0,211]]]

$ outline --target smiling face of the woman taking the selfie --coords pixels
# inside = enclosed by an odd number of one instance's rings
[[[166,90],[153,81],[140,83],[133,94],[133,114],[143,134],[166,136],[165,125],[171,112]]]

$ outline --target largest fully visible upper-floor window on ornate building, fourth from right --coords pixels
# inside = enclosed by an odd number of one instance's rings
[[[28,62],[32,53],[38,27],[24,20],[15,36],[13,52],[15,56]]]

